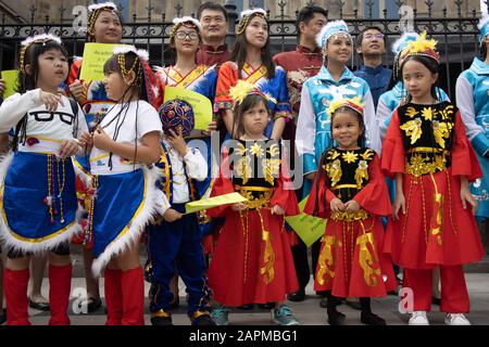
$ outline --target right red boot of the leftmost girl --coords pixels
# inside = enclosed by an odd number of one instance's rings
[[[49,265],[49,325],[70,325],[67,307],[72,290],[72,264],[57,267]]]

